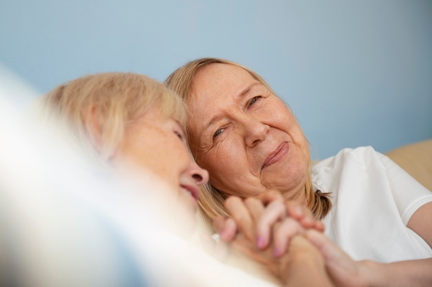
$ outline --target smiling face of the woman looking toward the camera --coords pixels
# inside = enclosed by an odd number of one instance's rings
[[[203,67],[188,107],[191,147],[213,187],[242,197],[270,189],[303,196],[308,142],[290,109],[246,70]]]

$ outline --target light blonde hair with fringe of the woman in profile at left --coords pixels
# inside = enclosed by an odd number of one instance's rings
[[[186,107],[179,96],[164,84],[133,73],[108,72],[77,78],[41,96],[39,106],[44,108],[45,116],[55,116],[52,120],[66,120],[72,134],[84,145],[92,145],[92,114],[99,134],[97,153],[105,159],[115,153],[125,128],[150,109],[158,107],[162,116],[186,125]]]

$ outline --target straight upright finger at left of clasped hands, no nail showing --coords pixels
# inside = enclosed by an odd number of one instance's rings
[[[255,238],[254,222],[251,213],[241,198],[230,196],[225,200],[225,207],[237,225],[237,230],[244,233],[251,242]]]

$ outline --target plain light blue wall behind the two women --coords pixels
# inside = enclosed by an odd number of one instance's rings
[[[38,94],[216,56],[293,108],[314,159],[432,138],[432,1],[0,0],[0,65]]]

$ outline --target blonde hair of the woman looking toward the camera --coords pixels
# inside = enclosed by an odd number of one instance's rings
[[[196,59],[195,61],[190,61],[185,65],[179,67],[175,70],[168,78],[166,78],[166,85],[177,93],[181,98],[184,99],[186,104],[191,100],[191,96],[194,94],[193,91],[193,79],[197,72],[204,66],[213,63],[222,63],[227,65],[235,65],[241,67],[243,70],[248,72],[255,80],[262,83],[269,91],[276,95],[276,93],[271,89],[271,87],[264,81],[264,78],[259,76],[252,70],[235,63],[233,61],[228,61],[224,59],[217,58],[202,58]],[[288,107],[288,105],[287,105]],[[193,135],[193,131],[190,130],[189,125],[186,125],[186,131],[189,135]],[[193,142],[192,136],[188,136],[189,146],[192,151],[195,148],[196,143]],[[311,178],[311,162],[309,163],[308,175],[306,177],[306,206],[308,206],[311,211],[315,214],[315,217],[322,219],[324,215],[328,213],[331,209],[331,202],[328,198],[328,193],[321,193],[320,191],[315,192],[313,190],[312,178]],[[202,194],[199,197],[199,206],[204,209],[204,212],[210,217],[215,218],[217,215],[227,215],[226,209],[224,207],[224,201],[227,196],[212,187],[210,183],[207,183],[202,190]]]

